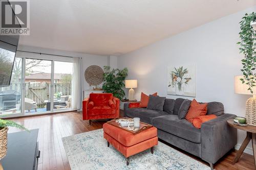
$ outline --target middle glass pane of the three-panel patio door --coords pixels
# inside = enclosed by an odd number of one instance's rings
[[[51,111],[51,63],[26,59],[25,113]]]

